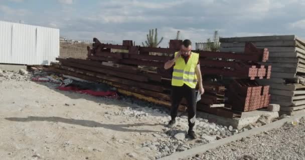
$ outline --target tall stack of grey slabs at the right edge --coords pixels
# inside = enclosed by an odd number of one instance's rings
[[[280,104],[282,113],[293,115],[305,111],[305,40],[295,35],[272,35],[220,38],[220,51],[243,52],[245,42],[258,48],[268,48],[265,65],[272,66],[270,79],[261,79],[270,85],[271,103]],[[304,76],[305,77],[305,76]]]

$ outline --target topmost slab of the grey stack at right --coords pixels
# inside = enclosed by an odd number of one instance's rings
[[[221,37],[220,42],[236,41],[273,41],[273,40],[295,40],[295,35],[268,35],[268,36],[244,36],[244,37]]]

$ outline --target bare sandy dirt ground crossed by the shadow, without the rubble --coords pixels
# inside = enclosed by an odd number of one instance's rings
[[[164,128],[158,122],[169,119],[108,115],[129,104],[32,81],[0,88],[1,159],[151,159],[154,152],[139,144],[154,140],[151,133]]]

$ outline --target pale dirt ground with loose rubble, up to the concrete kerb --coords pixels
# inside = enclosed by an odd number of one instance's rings
[[[198,138],[191,140],[185,115],[168,128],[167,108],[61,91],[58,85],[31,81],[31,73],[0,73],[3,159],[157,159],[238,132],[197,118]]]

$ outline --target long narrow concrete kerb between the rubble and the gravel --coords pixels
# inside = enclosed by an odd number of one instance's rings
[[[305,109],[303,109],[303,110],[305,110]],[[287,121],[292,121],[294,119],[299,119],[302,116],[304,116],[304,111],[297,112],[294,116],[290,116],[288,118],[283,118],[283,119],[274,121],[270,124],[266,124],[266,125],[263,125],[263,126],[258,127],[258,128],[254,128],[254,129],[251,129],[251,130],[248,130],[248,131],[244,131],[242,133],[229,136],[227,138],[219,139],[219,140],[213,141],[211,143],[204,144],[204,145],[201,145],[201,146],[197,146],[195,148],[192,148],[192,149],[189,149],[189,150],[186,150],[186,151],[175,152],[175,153],[173,153],[169,156],[165,156],[163,158],[160,158],[160,160],[185,159],[185,158],[195,156],[196,154],[202,154],[207,150],[217,148],[218,146],[227,144],[227,143],[235,141],[235,140],[240,140],[243,137],[252,136],[252,135],[255,135],[255,134],[259,134],[263,131],[268,131],[268,130],[271,130],[271,129],[279,128],[279,127],[283,126],[283,124],[285,124]]]

